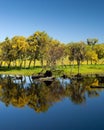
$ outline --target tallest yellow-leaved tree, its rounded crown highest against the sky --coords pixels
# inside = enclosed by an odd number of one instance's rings
[[[47,51],[47,45],[49,44],[50,37],[45,32],[37,31],[32,36],[30,36],[28,39],[28,55],[30,59],[30,63],[32,60],[38,59],[41,61],[41,66],[43,67],[43,60],[45,58],[45,54]],[[30,66],[30,65],[29,65]]]

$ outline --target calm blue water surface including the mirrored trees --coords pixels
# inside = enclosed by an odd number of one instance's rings
[[[104,83],[0,75],[0,130],[103,130],[104,89],[90,86]]]

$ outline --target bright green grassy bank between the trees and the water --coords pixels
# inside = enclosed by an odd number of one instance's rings
[[[31,67],[30,69],[15,69],[7,67],[0,68],[0,74],[13,74],[13,75],[32,75],[37,74],[42,70],[40,66],[37,66],[35,68]],[[45,70],[44,70],[45,71]],[[77,65],[73,66],[57,66],[56,71],[53,72],[54,75],[61,75],[61,74],[77,74],[78,73],[78,67]],[[104,65],[81,65],[80,66],[80,73],[81,74],[103,74],[104,73]]]

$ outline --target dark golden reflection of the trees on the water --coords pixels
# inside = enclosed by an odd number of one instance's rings
[[[0,75],[0,100],[6,105],[15,107],[28,106],[36,112],[47,111],[54,103],[69,98],[74,104],[82,104],[87,97],[100,96],[103,88],[90,86],[104,86],[97,77],[83,77],[82,79],[57,78],[54,81],[32,80],[31,77],[22,78],[13,75]]]

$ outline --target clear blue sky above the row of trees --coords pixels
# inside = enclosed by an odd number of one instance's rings
[[[37,30],[65,43],[104,43],[104,0],[0,0],[0,41]]]

